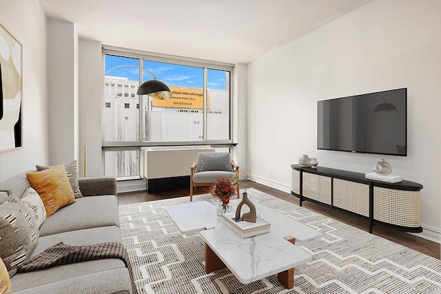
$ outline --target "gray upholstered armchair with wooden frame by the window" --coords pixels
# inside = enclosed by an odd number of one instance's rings
[[[190,201],[196,187],[212,186],[218,178],[233,178],[239,167],[227,152],[201,152],[190,167]],[[239,182],[237,184],[239,198]]]

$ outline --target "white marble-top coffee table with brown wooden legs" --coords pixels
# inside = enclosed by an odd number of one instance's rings
[[[231,202],[233,211],[239,200]],[[216,207],[207,201],[165,207],[182,233],[200,231],[205,241],[205,271],[227,267],[243,284],[278,275],[286,288],[294,287],[294,267],[311,260],[311,255],[295,245],[296,240],[317,238],[320,232],[281,213],[253,202],[257,215],[271,224],[269,233],[240,238],[216,215]],[[233,213],[230,213],[234,217]]]

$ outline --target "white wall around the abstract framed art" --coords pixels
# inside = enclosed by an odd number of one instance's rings
[[[23,148],[0,154],[0,182],[48,164],[46,17],[37,0],[2,0],[0,23],[22,45]]]

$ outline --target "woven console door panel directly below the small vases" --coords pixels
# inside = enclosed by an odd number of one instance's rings
[[[331,178],[303,173],[302,196],[331,205]]]

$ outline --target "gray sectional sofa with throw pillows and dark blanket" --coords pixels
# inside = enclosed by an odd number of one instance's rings
[[[0,205],[20,197],[30,187],[26,173],[0,184]],[[122,242],[114,178],[80,178],[83,194],[76,202],[46,218],[30,256],[63,242],[91,245]],[[132,293],[129,271],[122,260],[107,258],[54,266],[50,269],[16,273],[11,278],[12,293]]]

